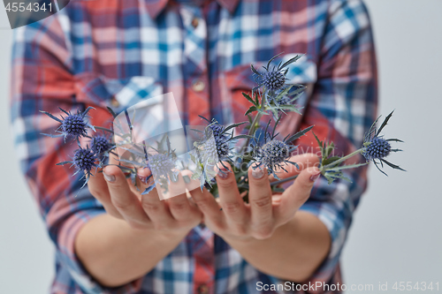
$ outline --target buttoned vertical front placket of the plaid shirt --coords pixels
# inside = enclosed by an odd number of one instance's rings
[[[207,26],[202,8],[183,4],[180,8],[184,34],[184,71],[187,91],[187,123],[198,125],[210,117],[210,80],[207,65]],[[194,229],[194,293],[212,294],[214,290],[213,233]]]

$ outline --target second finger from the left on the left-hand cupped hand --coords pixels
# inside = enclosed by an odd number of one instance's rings
[[[149,217],[141,207],[140,200],[133,194],[123,172],[116,166],[103,170],[110,192],[110,200],[126,222],[133,227],[146,227]]]

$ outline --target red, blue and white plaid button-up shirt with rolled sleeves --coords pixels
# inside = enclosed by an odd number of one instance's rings
[[[239,122],[248,109],[241,92],[255,87],[250,64],[258,68],[281,52],[276,62],[305,54],[287,77],[308,91],[297,102],[303,115],[289,114],[279,131],[315,124],[320,139],[333,140],[339,153],[359,148],[377,107],[373,39],[361,0],[79,0],[15,29],[11,123],[21,170],[57,248],[51,293],[247,294],[257,292],[257,282],[281,283],[200,226],[143,278],[118,289],[96,283],[73,243],[80,228],[105,211],[88,189],[78,193],[82,182],[72,170],[55,165],[76,144],[42,136],[57,122],[39,112],[93,106],[92,124],[103,125],[110,119],[107,106],[119,112],[172,92],[183,124],[202,124],[198,115]],[[298,150],[316,152],[313,141],[311,134],[302,137]],[[327,185],[321,178],[301,207],[324,222],[332,240],[312,283],[340,282],[339,255],[366,172],[351,170],[353,183]]]

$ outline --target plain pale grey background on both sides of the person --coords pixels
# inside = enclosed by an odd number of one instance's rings
[[[442,1],[365,0],[374,27],[385,135],[405,140],[391,156],[408,170],[370,169],[342,256],[345,283],[439,284],[442,292]],[[11,141],[11,29],[0,5],[0,293],[49,292],[53,246],[19,172]],[[435,162],[432,162],[432,161]],[[427,290],[428,291],[428,290]],[[437,292],[437,289],[433,290]],[[347,290],[347,293],[366,292]],[[368,292],[368,291],[367,291]],[[408,293],[417,290],[407,291]]]

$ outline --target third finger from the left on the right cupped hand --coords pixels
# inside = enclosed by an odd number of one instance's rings
[[[271,185],[267,169],[251,166],[248,169],[251,220],[260,230],[272,222]]]

